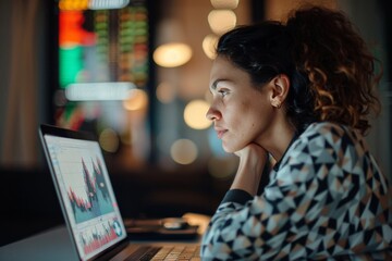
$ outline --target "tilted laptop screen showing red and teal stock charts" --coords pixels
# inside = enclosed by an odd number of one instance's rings
[[[41,138],[81,259],[90,259],[124,239],[126,231],[99,144],[42,130]]]

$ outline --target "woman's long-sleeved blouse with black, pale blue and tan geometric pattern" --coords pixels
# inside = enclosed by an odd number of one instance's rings
[[[392,260],[392,191],[356,132],[314,123],[261,196],[229,190],[203,260]]]

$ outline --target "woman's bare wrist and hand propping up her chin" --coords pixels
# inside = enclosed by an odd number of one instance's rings
[[[240,157],[240,164],[231,188],[256,195],[267,162],[267,151],[257,144],[249,144],[235,154]]]

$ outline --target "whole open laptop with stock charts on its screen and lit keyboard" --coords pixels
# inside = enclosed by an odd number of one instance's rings
[[[79,260],[151,260],[154,257],[163,260],[164,254],[174,257],[172,251],[180,254],[181,260],[185,256],[199,260],[198,243],[176,246],[130,243],[94,134],[42,124],[39,136]]]

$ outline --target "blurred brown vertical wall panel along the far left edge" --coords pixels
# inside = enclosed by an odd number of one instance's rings
[[[38,123],[50,104],[46,1],[1,1],[0,165],[38,165]]]

